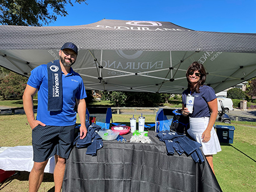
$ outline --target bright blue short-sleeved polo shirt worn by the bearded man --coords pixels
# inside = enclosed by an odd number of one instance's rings
[[[38,89],[38,114],[37,120],[47,126],[72,126],[76,123],[75,98],[86,98],[84,82],[81,76],[71,72],[65,76],[63,82],[63,108],[61,111],[48,111],[48,72],[47,65],[40,65],[31,71],[27,84]]]

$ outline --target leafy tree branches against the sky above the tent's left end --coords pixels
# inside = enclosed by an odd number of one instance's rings
[[[87,0],[76,0],[82,3]],[[43,26],[55,22],[57,15],[67,16],[65,5],[71,0],[0,0],[0,23],[14,26]]]

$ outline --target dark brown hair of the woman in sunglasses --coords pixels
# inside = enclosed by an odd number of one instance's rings
[[[201,73],[200,75],[200,80],[197,82],[196,86],[193,86],[191,84],[191,82],[189,81],[189,72],[195,72],[196,70],[199,71],[199,73]],[[204,85],[204,82],[206,80],[206,75],[207,73],[205,72],[204,66],[202,64],[200,64],[199,62],[195,61],[193,62],[186,73],[186,77],[187,77],[187,81],[188,81],[188,89],[191,91],[191,93],[195,92],[196,93],[200,93],[199,88],[200,86]]]

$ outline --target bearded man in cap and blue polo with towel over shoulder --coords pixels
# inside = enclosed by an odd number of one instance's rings
[[[71,66],[77,58],[77,47],[65,43],[60,60],[40,65],[31,72],[23,95],[24,111],[32,129],[34,166],[29,177],[29,191],[38,191],[48,159],[55,156],[55,191],[61,191],[65,162],[74,140],[76,111],[80,117],[81,139],[86,136],[86,93],[80,75]],[[33,97],[38,91],[38,114],[34,118]]]

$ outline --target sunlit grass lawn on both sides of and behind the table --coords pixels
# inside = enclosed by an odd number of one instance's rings
[[[1,105],[1,104],[0,104]],[[146,123],[154,123],[155,115],[144,115]],[[114,122],[129,122],[131,115],[113,114]],[[77,121],[79,122],[79,119]],[[216,124],[221,124],[217,123]],[[226,125],[226,124],[225,124]],[[234,143],[221,143],[222,151],[213,156],[216,178],[225,192],[256,192],[256,122],[234,122]],[[31,128],[24,114],[0,114],[0,146],[31,145]],[[39,191],[54,191],[52,174],[45,174]],[[21,172],[1,191],[28,191],[28,173]]]

